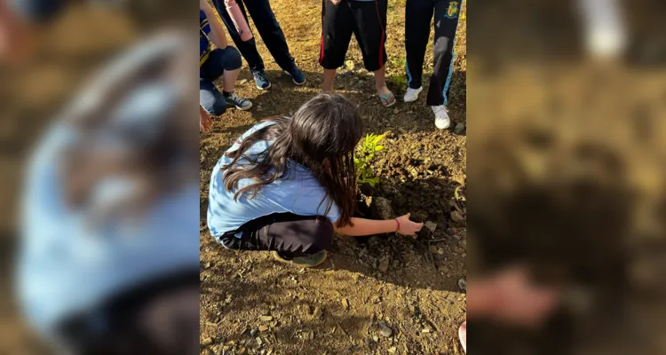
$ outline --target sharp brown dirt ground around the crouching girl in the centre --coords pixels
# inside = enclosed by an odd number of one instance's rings
[[[387,77],[398,104],[381,106],[355,41],[337,75],[337,92],[359,105],[368,131],[389,132],[373,165],[381,178],[374,195],[390,200],[396,215],[410,212],[431,222],[433,231],[424,228],[416,240],[389,235],[361,243],[338,237],[326,263],[299,270],[266,252],[222,248],[205,220],[210,171],[233,140],[262,118],[293,114],[321,91],[321,2],[301,1],[297,10],[288,0],[271,4],[307,83],[296,87],[283,77],[258,38],[273,87],[259,91],[244,69],[236,90],[254,107],[216,117],[213,129],[202,134],[202,354],[462,353],[457,328],[466,317],[465,9],[448,106],[456,133],[435,129],[425,95],[401,102],[407,85],[405,0],[389,0],[387,26]],[[426,63],[432,63],[432,49]],[[431,73],[426,67],[425,79]]]

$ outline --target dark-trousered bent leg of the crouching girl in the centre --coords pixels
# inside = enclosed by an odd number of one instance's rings
[[[292,213],[259,217],[222,237],[226,248],[275,250],[283,256],[308,256],[330,247],[333,224],[327,217]]]

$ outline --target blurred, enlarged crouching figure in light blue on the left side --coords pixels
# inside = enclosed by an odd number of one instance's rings
[[[60,351],[198,353],[192,43],[163,33],[113,60],[30,160],[17,286]]]

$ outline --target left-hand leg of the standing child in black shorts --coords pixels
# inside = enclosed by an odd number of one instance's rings
[[[323,91],[333,91],[336,69],[345,64],[345,55],[352,40],[353,13],[350,4],[321,2],[321,48],[319,64],[324,68]]]

